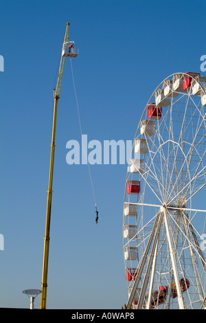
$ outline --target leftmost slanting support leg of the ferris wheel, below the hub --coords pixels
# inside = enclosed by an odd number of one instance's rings
[[[149,238],[148,243],[146,245],[146,249],[145,249],[144,255],[141,258],[141,262],[140,262],[140,265],[139,265],[139,269],[137,270],[137,276],[135,278],[135,282],[134,282],[132,291],[131,291],[130,296],[128,298],[128,302],[126,304],[126,309],[130,309],[130,307],[132,305],[132,302],[133,302],[133,299],[135,297],[135,292],[137,290],[137,286],[139,285],[139,280],[141,278],[141,273],[142,273],[142,271],[144,269],[144,265],[146,263],[146,258],[148,256],[148,252],[149,252],[149,249],[150,249],[150,245],[152,243],[152,240],[153,240],[153,237],[154,237],[154,234],[155,234],[155,230],[157,228],[157,223],[159,221],[159,217],[160,217],[160,213],[158,213],[157,216],[156,216],[155,223],[154,223],[154,225],[152,227],[152,232],[150,234],[150,238]]]

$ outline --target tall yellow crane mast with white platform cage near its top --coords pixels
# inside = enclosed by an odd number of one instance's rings
[[[55,136],[56,136],[56,113],[58,99],[60,98],[60,89],[62,83],[62,74],[65,63],[65,57],[76,57],[78,56],[78,49],[74,46],[73,41],[69,41],[69,23],[67,23],[65,39],[62,45],[62,55],[60,60],[60,67],[58,71],[58,80],[56,89],[54,89],[54,117],[52,127],[52,144],[51,144],[51,157],[50,157],[50,168],[49,168],[49,188],[47,190],[47,215],[45,225],[45,243],[44,243],[44,256],[43,256],[43,276],[41,282],[41,309],[46,309],[47,300],[47,273],[48,273],[48,261],[49,261],[49,232],[50,232],[50,221],[51,221],[51,208],[52,208],[52,181],[53,181],[53,170],[54,170],[54,148],[55,148]]]

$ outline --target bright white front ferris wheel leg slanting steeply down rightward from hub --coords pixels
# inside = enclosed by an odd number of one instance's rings
[[[167,238],[168,238],[168,244],[169,244],[169,248],[170,248],[170,257],[171,257],[172,269],[173,269],[173,273],[174,273],[174,280],[176,283],[176,292],[177,292],[177,298],[178,298],[178,303],[179,303],[179,309],[185,309],[185,304],[184,304],[183,296],[181,293],[179,276],[178,276],[177,267],[176,267],[176,255],[175,255],[176,252],[175,252],[174,247],[172,246],[170,230],[168,227],[168,216],[167,216],[167,212],[165,209],[164,209],[164,222],[165,222],[165,229],[166,229],[166,234],[167,234]]]

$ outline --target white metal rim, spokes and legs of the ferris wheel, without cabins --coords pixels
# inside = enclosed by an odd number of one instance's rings
[[[173,79],[175,76],[180,76],[180,79],[183,79],[187,76],[190,76],[190,78],[192,78],[192,83],[194,84],[194,82],[198,83],[198,81],[196,80],[195,77],[191,76],[190,74],[187,73],[175,73],[175,74],[171,74],[170,76],[168,76],[168,78],[165,78],[165,80],[163,80],[159,86],[155,89],[155,91],[152,93],[152,96],[150,96],[150,99],[148,100],[148,103],[146,104],[146,107],[144,109],[144,112],[141,115],[139,124],[137,126],[137,131],[135,133],[135,139],[133,141],[133,147],[130,153],[130,165],[132,164],[133,167],[137,167],[134,164],[134,159],[132,159],[132,155],[134,153],[134,145],[135,145],[135,140],[137,139],[137,135],[138,132],[140,130],[141,127],[141,121],[144,120],[144,115],[146,115],[148,106],[151,104],[151,100],[152,98],[155,96],[155,93],[157,93],[158,89],[161,89],[161,86],[168,80],[171,80],[171,78]],[[206,78],[205,78],[206,79]],[[206,80],[205,80],[206,82]],[[198,83],[199,86],[199,91],[198,93],[203,93],[206,96],[206,92],[205,92],[205,88]],[[206,87],[206,85],[205,85]],[[126,216],[125,216],[125,206],[126,205],[134,205],[137,206],[137,208],[144,208],[146,206],[151,207],[151,208],[156,208],[159,209],[157,210],[157,214],[155,214],[155,216],[152,217],[152,219],[150,219],[150,221],[148,221],[147,223],[142,224],[141,230],[144,230],[146,225],[148,225],[148,223],[152,223],[152,221],[154,222],[152,225],[152,229],[150,230],[147,238],[146,238],[146,245],[144,248],[144,253],[141,254],[141,258],[139,259],[139,262],[137,264],[137,268],[135,271],[135,278],[133,279],[133,284],[130,285],[130,292],[129,292],[129,297],[128,297],[128,302],[126,304],[126,308],[130,309],[130,307],[133,304],[133,300],[135,298],[135,293],[137,292],[137,287],[139,285],[140,280],[143,280],[143,282],[141,283],[141,289],[139,290],[139,298],[138,298],[138,302],[135,308],[137,309],[150,309],[151,305],[151,299],[152,299],[152,285],[153,285],[153,280],[154,280],[154,276],[155,276],[155,265],[156,265],[156,260],[157,260],[157,253],[158,253],[158,241],[159,241],[159,234],[160,234],[160,227],[163,223],[164,227],[165,227],[165,235],[167,237],[167,243],[168,243],[168,254],[170,254],[170,261],[172,264],[172,273],[174,276],[174,281],[176,282],[176,294],[177,294],[177,300],[178,300],[178,305],[179,305],[179,309],[185,309],[185,304],[184,304],[184,298],[183,298],[183,293],[181,291],[181,285],[179,282],[179,269],[177,268],[177,261],[176,261],[176,251],[175,251],[175,243],[174,240],[172,239],[171,235],[171,228],[170,225],[168,223],[168,219],[170,218],[170,212],[179,212],[182,216],[182,221],[183,221],[183,225],[185,228],[185,232],[183,232],[183,230],[181,230],[181,228],[179,228],[179,232],[181,232],[182,235],[185,236],[185,241],[187,241],[187,248],[189,250],[189,254],[191,257],[191,261],[195,260],[196,256],[194,255],[194,249],[196,249],[196,254],[198,255],[200,261],[201,261],[201,265],[203,266],[203,271],[206,274],[206,263],[205,263],[205,258],[203,255],[203,252],[201,251],[201,248],[199,247],[198,241],[196,236],[198,235],[198,231],[196,230],[196,228],[192,225],[192,219],[194,218],[194,216],[196,216],[196,214],[198,212],[201,212],[203,214],[203,212],[206,212],[206,210],[201,210],[198,208],[192,208],[192,198],[205,186],[206,184],[206,180],[203,181],[203,178],[205,177],[205,168],[206,166],[202,166],[203,164],[203,158],[205,157],[205,151],[202,153],[202,155],[200,155],[198,153],[198,144],[202,144],[201,141],[202,139],[199,140],[199,142],[195,142],[196,137],[198,136],[198,131],[199,129],[202,128],[202,125],[205,127],[206,124],[206,120],[205,120],[205,114],[203,115],[203,113],[200,111],[199,107],[196,105],[196,103],[193,100],[193,95],[191,93],[192,91],[192,86],[190,87],[189,91],[176,91],[178,92],[177,95],[181,95],[182,97],[188,97],[187,98],[187,104],[189,104],[189,100],[192,100],[194,103],[194,107],[196,107],[196,111],[198,111],[199,113],[199,120],[201,121],[201,124],[198,124],[198,127],[196,129],[196,133],[194,134],[193,137],[193,141],[192,144],[190,146],[190,143],[187,142],[187,140],[185,140],[184,138],[184,130],[183,130],[183,126],[181,126],[181,132],[179,133],[179,142],[176,142],[173,138],[170,140],[163,140],[163,138],[161,137],[160,133],[157,135],[157,137],[159,136],[159,142],[162,142],[161,144],[159,144],[159,147],[157,147],[157,153],[159,153],[159,151],[161,151],[162,147],[166,144],[168,144],[168,141],[170,141],[175,148],[173,148],[172,153],[175,153],[176,155],[174,155],[174,158],[178,157],[177,154],[178,152],[181,152],[180,155],[182,155],[183,158],[183,162],[181,164],[181,168],[179,169],[179,172],[176,175],[176,180],[174,181],[174,183],[172,183],[172,180],[174,180],[171,177],[168,176],[168,178],[166,179],[166,181],[162,178],[162,183],[161,181],[159,181],[157,183],[157,186],[152,186],[152,181],[157,181],[158,176],[156,170],[157,167],[155,165],[152,165],[153,160],[155,160],[155,154],[156,152],[150,150],[149,146],[148,146],[148,154],[149,157],[148,159],[150,159],[151,161],[151,165],[152,167],[150,168],[148,165],[147,166],[147,170],[148,172],[140,172],[140,171],[136,171],[139,175],[139,179],[141,181],[143,181],[144,183],[144,189],[143,192],[141,193],[143,196],[143,199],[140,199],[139,201],[139,193],[137,194],[137,201],[133,202],[133,201],[126,201],[126,187],[125,187],[125,193],[124,193],[124,220],[123,220],[123,231],[126,228]],[[172,93],[174,93],[175,91],[171,91]],[[170,93],[171,94],[171,93]],[[171,95],[170,95],[171,97]],[[165,96],[166,98],[166,96]],[[179,99],[176,99],[179,100]],[[179,104],[179,103],[178,103]],[[182,104],[184,106],[184,104]],[[161,102],[159,103],[159,105],[157,104],[157,107],[161,106]],[[172,105],[171,105],[172,107]],[[200,106],[201,107],[201,106]],[[172,111],[172,109],[171,109]],[[184,113],[184,111],[181,111]],[[180,111],[179,111],[180,113]],[[172,112],[171,112],[172,115]],[[172,118],[172,116],[170,115],[170,120]],[[191,124],[192,120],[195,116],[192,114],[191,115]],[[186,109],[185,109],[185,115],[184,115],[184,120],[186,120],[187,116],[186,116]],[[172,120],[173,122],[173,120]],[[159,120],[157,120],[158,126],[157,126],[157,131],[159,131]],[[166,122],[165,122],[166,124]],[[173,123],[172,123],[173,125]],[[171,124],[168,125],[168,131],[171,131],[170,129]],[[188,125],[189,127],[189,125]],[[165,126],[165,129],[167,127]],[[186,130],[187,129],[187,125],[186,125]],[[195,130],[195,129],[194,129]],[[173,132],[173,129],[172,129]],[[205,135],[206,136],[206,135]],[[148,141],[152,142],[152,135],[148,136]],[[181,142],[180,138],[184,138],[184,140]],[[205,138],[206,140],[206,138]],[[185,154],[184,151],[184,147],[181,146],[182,143],[185,143],[185,146],[188,146],[190,148],[187,148],[187,155]],[[148,142],[147,142],[148,144]],[[153,147],[155,147],[155,141],[152,143]],[[170,144],[170,143],[169,143]],[[194,146],[194,144],[196,144],[196,146]],[[203,144],[202,144],[203,145]],[[169,152],[169,148],[168,148],[168,152]],[[191,153],[192,152],[192,153]],[[190,156],[191,153],[191,156]],[[192,172],[190,172],[190,168],[192,167],[192,155],[195,154],[198,156],[198,164],[195,170],[192,170]],[[169,154],[169,153],[168,153]],[[159,153],[160,155],[160,159],[164,159],[164,155],[162,153]],[[145,156],[145,155],[144,155]],[[165,156],[167,157],[167,154],[165,154]],[[189,158],[188,158],[189,156]],[[160,161],[160,168],[161,168],[161,174],[163,177],[163,174],[165,172],[165,170],[163,170],[163,168],[166,168],[168,170],[172,170],[171,173],[173,174],[174,168],[176,167],[176,162],[174,163],[174,166],[169,166],[168,163],[170,162],[169,158],[168,159],[164,159]],[[164,166],[163,166],[164,163]],[[173,168],[173,169],[172,169]],[[186,172],[185,169],[187,169],[188,171]],[[176,186],[179,186],[179,183],[181,183],[180,177],[182,177],[183,172],[185,172],[185,182],[186,184],[183,187],[180,187],[179,190],[177,192],[174,192],[176,189]],[[150,173],[150,181],[148,181],[148,173]],[[160,172],[159,172],[160,173]],[[126,175],[126,185],[128,183],[128,179],[130,177],[130,170],[128,170],[127,175]],[[153,178],[152,178],[153,177]],[[168,181],[168,179],[170,179]],[[139,181],[140,181],[139,180]],[[141,182],[140,181],[140,182]],[[198,183],[198,181],[200,182],[200,184],[198,184],[199,186],[195,187],[196,183]],[[166,183],[166,185],[168,185],[169,188],[172,187],[172,190],[166,190],[165,187],[163,187],[163,183]],[[148,188],[150,188],[150,192],[152,192],[154,194],[154,196],[157,199],[157,203],[146,203],[144,201],[144,199],[147,199],[147,197],[144,196],[145,194],[145,189],[146,186]],[[159,196],[159,193],[163,192],[165,194],[165,196],[168,197],[168,201],[165,200],[165,197],[163,196],[163,194],[161,196]],[[187,196],[186,199],[184,199],[184,201],[179,201],[179,204],[175,204],[174,202],[176,201],[177,197],[179,197],[180,195],[183,196]],[[172,196],[173,194],[173,196]],[[190,207],[187,207],[187,203],[190,203]],[[189,212],[190,217],[187,216],[187,212]],[[192,212],[194,212],[194,215],[191,216]],[[127,216],[128,217],[128,216]],[[172,219],[172,221],[175,222],[174,219]],[[137,222],[137,221],[136,221]],[[129,226],[129,225],[128,225]],[[135,225],[133,225],[135,227]],[[176,225],[178,226],[178,225]],[[189,229],[188,229],[189,227]],[[186,232],[188,233],[188,236],[186,234]],[[138,236],[138,230],[137,233],[133,235],[132,238],[125,238],[123,236],[123,245],[124,245],[124,251],[125,249],[130,246],[130,243],[132,243],[135,238],[137,238]],[[191,238],[188,238],[189,236],[192,236],[193,240]],[[178,238],[177,238],[178,239]],[[177,242],[176,242],[177,243]],[[139,247],[139,245],[136,246],[137,248]],[[134,247],[135,248],[135,247]],[[125,262],[125,268],[126,270],[128,269],[127,266],[127,261],[124,259]],[[142,273],[143,270],[145,270],[144,273],[144,278],[142,278]],[[198,275],[198,269],[197,267],[194,265],[193,270],[196,271],[196,274]],[[148,288],[149,286],[149,288]],[[147,295],[147,301],[146,301],[146,289],[148,288],[148,295]],[[200,289],[200,293],[202,293],[203,297],[201,298],[202,302],[201,302],[201,308],[205,308],[205,290],[203,291],[203,288],[201,289],[201,287],[199,287]],[[204,293],[204,294],[203,294]],[[167,296],[168,298],[171,298],[170,296]],[[170,301],[169,301],[170,302]],[[169,304],[169,303],[168,303]],[[158,304],[157,304],[158,307]]]

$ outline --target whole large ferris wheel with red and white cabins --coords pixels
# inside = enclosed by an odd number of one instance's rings
[[[139,120],[124,194],[127,309],[206,308],[205,89],[198,73],[172,74]]]

